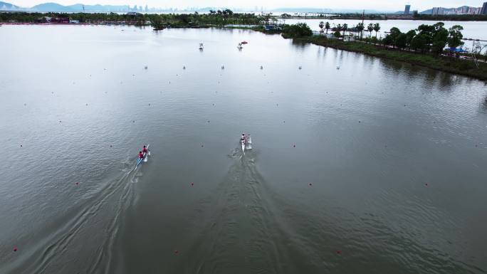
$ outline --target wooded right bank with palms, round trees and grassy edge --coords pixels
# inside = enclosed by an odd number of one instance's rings
[[[442,22],[432,25],[421,24],[407,33],[393,27],[386,32],[384,38],[377,38],[377,33],[381,29],[379,23],[370,23],[367,26],[358,23],[352,28],[348,28],[345,23],[331,28],[329,22],[320,22],[320,28],[318,35],[313,33],[306,23],[286,25],[277,30],[263,32],[281,33],[283,38],[292,38],[296,43],[313,43],[365,53],[487,80],[487,43],[474,41],[470,52],[462,50],[459,47],[464,45],[461,33],[464,28],[460,25],[446,29]]]

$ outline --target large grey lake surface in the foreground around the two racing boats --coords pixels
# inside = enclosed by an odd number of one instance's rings
[[[0,37],[0,273],[487,272],[486,83],[241,30]]]

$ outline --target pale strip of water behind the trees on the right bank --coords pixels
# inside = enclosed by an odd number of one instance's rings
[[[321,21],[328,21],[330,22],[330,25],[333,27],[333,24],[338,25],[347,23],[348,27],[351,28],[352,26],[357,26],[358,23],[362,23],[362,20],[344,20],[344,19],[334,19],[334,20],[329,20],[329,19],[286,19],[283,21],[281,19],[281,23],[307,23],[308,26],[310,26],[313,31],[319,31],[320,30],[320,22]],[[408,32],[411,31],[412,29],[418,28],[419,25],[421,24],[426,24],[426,25],[433,25],[437,21],[424,21],[424,20],[365,20],[364,25],[365,28],[370,23],[379,23],[381,26],[381,29],[379,33],[377,33],[377,37],[384,37],[386,33],[384,31],[389,31],[391,28],[399,28],[402,32]],[[472,39],[480,39],[480,40],[485,40],[487,41],[487,21],[442,21],[445,23],[445,28],[451,28],[451,26],[455,25],[460,25],[464,27],[464,31],[462,33],[464,34],[464,38],[472,38]],[[365,34],[369,34],[367,31],[365,31]],[[364,35],[365,35],[364,34]],[[372,31],[372,36],[375,36],[375,31]],[[464,41],[465,42],[465,47],[471,48],[472,47],[472,42],[471,41]]]

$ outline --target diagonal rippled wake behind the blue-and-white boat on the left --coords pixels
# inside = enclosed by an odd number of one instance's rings
[[[112,245],[123,212],[134,201],[138,173],[128,163],[121,172],[44,227],[6,273],[112,273]]]

